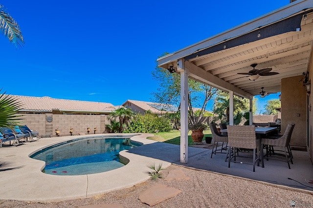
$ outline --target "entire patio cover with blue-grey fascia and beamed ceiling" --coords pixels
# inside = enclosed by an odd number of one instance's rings
[[[184,60],[189,78],[234,95],[252,98],[261,87],[269,93],[281,92],[281,79],[300,76],[308,70],[313,40],[312,0],[297,0],[257,19],[157,59],[168,69]],[[305,20],[303,17],[307,15]],[[260,33],[261,37],[258,37]],[[247,73],[272,68],[278,75],[260,76],[255,81]]]

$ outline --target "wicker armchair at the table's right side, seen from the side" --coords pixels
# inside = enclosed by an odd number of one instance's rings
[[[295,126],[294,123],[288,124],[286,131],[283,135],[272,135],[272,136],[268,136],[268,138],[262,138],[262,146],[263,148],[266,147],[267,160],[268,160],[268,155],[272,155],[272,154],[285,156],[288,167],[289,169],[291,169],[289,161],[291,162],[291,164],[293,164],[293,162],[292,162],[292,153],[291,153],[291,148],[290,148],[289,143],[290,143],[291,134],[292,134],[294,126]],[[275,151],[282,151],[282,150],[274,150],[273,147],[284,148],[283,151],[285,152],[285,154],[280,154],[280,153],[275,152]]]

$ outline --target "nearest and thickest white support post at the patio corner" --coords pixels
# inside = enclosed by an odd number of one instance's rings
[[[184,59],[177,62],[180,72],[180,163],[188,162],[188,69]]]

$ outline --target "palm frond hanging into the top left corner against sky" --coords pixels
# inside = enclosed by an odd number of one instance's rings
[[[4,36],[7,36],[11,43],[16,47],[24,44],[22,32],[18,23],[6,12],[3,5],[0,4],[0,30]]]

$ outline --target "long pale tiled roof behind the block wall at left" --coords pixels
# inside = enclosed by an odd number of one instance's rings
[[[111,103],[90,102],[80,100],[56,99],[51,97],[32,97],[11,95],[22,103],[21,111],[79,111],[79,112],[111,112],[116,110]]]

